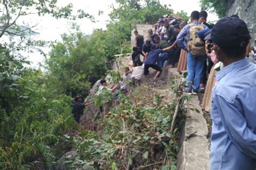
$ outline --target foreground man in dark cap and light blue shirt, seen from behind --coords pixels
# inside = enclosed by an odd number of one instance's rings
[[[215,77],[211,108],[210,169],[256,169],[256,66],[245,57],[250,35],[237,17],[212,29],[213,49],[224,68]]]

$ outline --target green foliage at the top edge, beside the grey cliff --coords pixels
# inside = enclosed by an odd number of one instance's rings
[[[227,0],[200,0],[202,10],[210,10],[216,12],[219,18],[225,17],[228,9]]]

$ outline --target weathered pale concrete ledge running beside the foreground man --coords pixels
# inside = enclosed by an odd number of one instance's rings
[[[199,106],[199,99],[193,96],[186,113],[186,121],[180,138],[178,169],[209,169],[210,142],[206,138],[207,123]],[[199,111],[199,113],[198,113]]]

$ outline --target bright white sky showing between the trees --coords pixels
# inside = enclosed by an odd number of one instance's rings
[[[90,19],[77,19],[77,25],[80,25],[80,30],[86,34],[92,33],[94,29],[106,29],[106,23],[109,20],[109,13],[111,12],[110,5],[114,4],[114,0],[59,0],[58,5],[73,4],[74,11],[83,9],[85,12],[90,13],[95,17],[96,22],[92,23]],[[194,11],[200,11],[199,0],[160,0],[161,4],[170,5],[174,12],[185,11],[188,15]],[[103,11],[103,14],[98,16],[98,11]],[[160,10],[160,9],[159,9]],[[218,17],[208,12],[208,20],[215,21]],[[69,32],[70,22],[66,19],[55,19],[51,16],[39,17],[37,15],[28,15],[19,18],[19,24],[23,22],[30,23],[31,25],[37,24],[35,31],[40,34],[35,37],[42,40],[61,40],[62,33]],[[50,49],[44,49],[49,52]],[[38,53],[28,54],[29,60],[32,62],[32,67],[37,67],[38,63],[42,63],[44,57]]]

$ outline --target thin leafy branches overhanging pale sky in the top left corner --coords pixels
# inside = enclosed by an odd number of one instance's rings
[[[89,15],[89,13],[84,12],[83,10],[78,10],[77,13],[74,15],[72,12],[72,4],[68,4],[66,6],[59,7],[57,6],[56,0],[40,0],[40,1],[33,1],[33,0],[18,0],[18,1],[11,1],[11,0],[1,0],[2,3],[0,9],[2,11],[2,15],[0,17],[0,37],[3,34],[9,33],[12,35],[18,35],[17,33],[21,32],[22,30],[18,27],[17,21],[21,16],[37,14],[39,16],[44,16],[46,14],[51,15],[55,18],[69,18],[69,19],[76,19],[76,18],[91,18],[93,16]],[[34,25],[30,25],[31,28]],[[17,30],[17,33],[14,31],[10,31],[9,29]],[[29,29],[29,28],[28,28]]]

